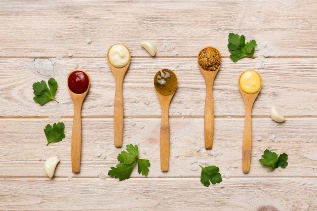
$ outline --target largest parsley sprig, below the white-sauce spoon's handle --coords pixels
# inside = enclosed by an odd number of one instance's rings
[[[148,175],[150,161],[138,158],[139,149],[137,145],[127,145],[127,151],[128,152],[122,151],[118,155],[117,159],[120,163],[115,167],[111,167],[108,175],[114,178],[119,178],[120,181],[129,179],[133,167],[138,164],[138,173],[146,177]]]

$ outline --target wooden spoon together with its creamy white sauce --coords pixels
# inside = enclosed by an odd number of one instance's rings
[[[123,139],[123,79],[131,60],[130,50],[123,44],[111,46],[107,52],[107,62],[115,80],[113,108],[114,146],[122,147]]]

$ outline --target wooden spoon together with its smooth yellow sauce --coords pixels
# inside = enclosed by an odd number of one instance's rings
[[[258,72],[254,70],[246,70],[243,72],[238,81],[239,90],[245,104],[245,125],[243,130],[242,144],[242,172],[249,173],[251,162],[252,148],[252,122],[251,111],[255,99],[260,93],[262,87],[262,79]]]

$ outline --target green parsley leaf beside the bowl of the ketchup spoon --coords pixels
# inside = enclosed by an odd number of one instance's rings
[[[35,82],[33,83],[33,90],[35,97],[33,100],[37,102],[39,105],[44,105],[45,103],[49,102],[50,100],[55,100],[58,102],[55,98],[55,92],[57,89],[57,82],[54,78],[50,78],[49,81],[49,88],[46,85],[46,82],[42,80],[41,82]],[[58,102],[59,103],[59,102]]]

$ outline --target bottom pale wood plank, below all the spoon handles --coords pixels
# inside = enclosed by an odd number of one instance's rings
[[[184,185],[185,184],[185,185]],[[316,210],[316,178],[0,179],[2,210]]]

